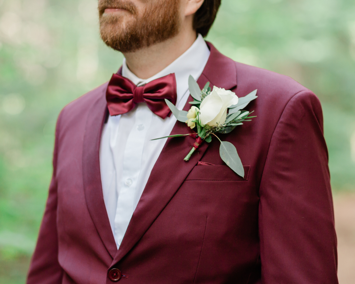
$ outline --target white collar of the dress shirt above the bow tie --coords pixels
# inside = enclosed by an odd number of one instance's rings
[[[141,86],[155,79],[169,75],[170,73],[175,73],[177,102],[180,102],[186,91],[189,89],[189,76],[192,75],[192,77],[197,81],[208,61],[209,54],[210,51],[206,42],[204,41],[202,35],[198,34],[195,42],[185,51],[185,53],[154,76],[146,80],[138,78],[131,72],[131,70],[128,69],[125,58],[122,62],[122,76],[131,80],[137,86]]]

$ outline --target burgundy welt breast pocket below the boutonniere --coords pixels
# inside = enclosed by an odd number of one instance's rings
[[[240,180],[249,178],[250,166],[244,167],[244,179],[237,175],[227,165],[197,165],[194,166],[185,180]]]

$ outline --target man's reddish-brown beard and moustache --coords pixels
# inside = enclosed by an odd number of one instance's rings
[[[99,0],[100,35],[109,47],[133,52],[174,37],[180,30],[180,0],[150,1],[142,15],[130,1]],[[108,7],[125,9],[104,13]],[[127,15],[129,13],[130,15]]]

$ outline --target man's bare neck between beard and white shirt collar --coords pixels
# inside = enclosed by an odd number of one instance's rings
[[[164,42],[153,44],[135,52],[124,53],[127,67],[138,78],[148,79],[182,55],[196,40],[196,32],[181,30]]]

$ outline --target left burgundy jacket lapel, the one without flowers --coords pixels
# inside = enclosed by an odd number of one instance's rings
[[[103,88],[103,94],[88,111],[83,141],[83,185],[91,218],[107,251],[114,258],[117,247],[104,203],[99,162],[101,133],[108,115],[105,91]]]

